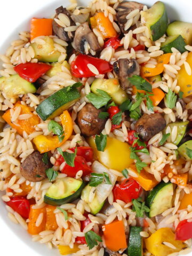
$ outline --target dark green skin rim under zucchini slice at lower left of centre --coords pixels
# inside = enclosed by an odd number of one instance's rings
[[[61,198],[61,199],[51,198],[51,197],[49,197],[45,194],[44,202],[46,204],[50,204],[50,205],[53,205],[53,206],[60,206],[62,204],[67,204],[67,203],[74,202],[76,199],[81,197],[81,193],[82,193],[82,190],[85,187],[85,185],[86,185],[86,182],[82,181],[82,185],[78,188],[78,190],[73,195],[70,195],[68,197]]]

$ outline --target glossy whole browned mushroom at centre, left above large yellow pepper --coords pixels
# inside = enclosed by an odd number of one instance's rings
[[[103,130],[106,120],[99,118],[101,110],[87,103],[78,113],[77,122],[81,132],[85,136],[100,134]]]

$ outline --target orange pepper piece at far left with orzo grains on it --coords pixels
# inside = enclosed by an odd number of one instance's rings
[[[5,112],[5,114],[2,116],[3,119],[6,121],[7,124],[9,124],[11,127],[13,127],[17,132],[22,136],[23,131],[27,132],[27,134],[33,133],[35,131],[35,125],[39,124],[40,119],[37,115],[33,114],[28,106],[21,105],[21,102],[18,101],[14,105],[15,107],[21,107],[21,114],[31,114],[32,116],[30,118],[27,118],[25,120],[18,120],[18,125],[15,125],[11,122],[11,113],[10,109]]]

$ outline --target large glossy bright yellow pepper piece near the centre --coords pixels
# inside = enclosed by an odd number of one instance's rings
[[[93,148],[95,159],[98,159],[101,164],[110,169],[122,172],[133,163],[133,159],[130,158],[130,146],[126,142],[107,137],[107,145],[102,152],[97,150],[93,137],[90,137],[87,141],[90,147]]]

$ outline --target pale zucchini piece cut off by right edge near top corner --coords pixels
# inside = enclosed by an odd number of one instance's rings
[[[167,27],[167,35],[181,35],[186,44],[192,44],[192,23],[183,21],[174,21]],[[187,51],[187,50],[186,50]]]

